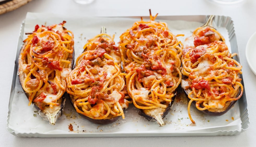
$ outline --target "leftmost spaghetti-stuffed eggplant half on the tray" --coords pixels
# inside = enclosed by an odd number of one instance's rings
[[[19,81],[39,115],[54,125],[66,101],[66,76],[74,57],[73,33],[60,24],[41,27],[28,34],[19,55]]]

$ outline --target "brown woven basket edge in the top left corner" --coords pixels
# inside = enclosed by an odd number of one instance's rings
[[[21,6],[27,4],[32,0],[7,0],[0,2],[0,14],[13,11],[17,8],[20,8]]]

